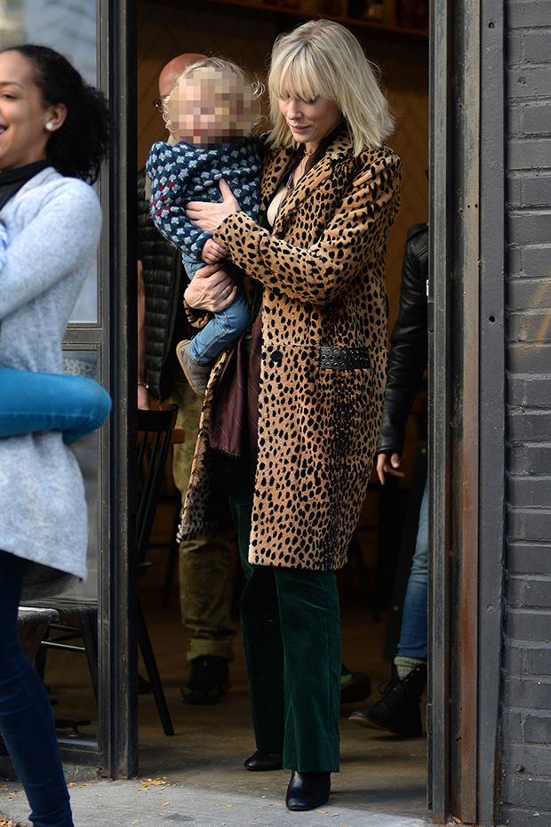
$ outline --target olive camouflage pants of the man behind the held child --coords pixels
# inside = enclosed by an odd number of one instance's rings
[[[172,381],[171,402],[178,405],[177,425],[186,431],[186,441],[173,448],[172,476],[182,502],[188,490],[191,463],[196,449],[203,398],[189,387],[184,374]],[[180,542],[180,610],[190,630],[188,661],[204,655],[233,660],[236,634],[231,622],[233,555],[235,543],[229,535],[212,540]]]

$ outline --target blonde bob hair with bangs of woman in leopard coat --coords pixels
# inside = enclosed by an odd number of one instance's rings
[[[302,100],[323,98],[338,106],[355,155],[379,147],[394,129],[376,68],[355,36],[333,20],[309,20],[275,40],[268,90],[274,147],[298,148],[279,108],[279,99],[288,92]]]

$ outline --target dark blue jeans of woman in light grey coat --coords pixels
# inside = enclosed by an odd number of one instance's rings
[[[24,567],[24,559],[0,551],[0,732],[34,827],[73,827],[52,704],[17,636]]]

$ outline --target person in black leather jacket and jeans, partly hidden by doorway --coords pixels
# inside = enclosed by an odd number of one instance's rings
[[[400,313],[390,337],[387,387],[377,442],[377,473],[403,477],[400,470],[405,424],[419,382],[427,368],[428,227],[415,224],[403,254]],[[427,486],[419,512],[415,554],[403,604],[398,654],[390,679],[370,711],[355,711],[350,720],[363,727],[388,729],[403,736],[421,735],[420,697],[427,682]]]

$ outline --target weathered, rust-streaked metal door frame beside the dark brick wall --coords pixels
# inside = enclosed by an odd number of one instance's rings
[[[505,550],[504,9],[432,0],[429,799],[498,820]]]

